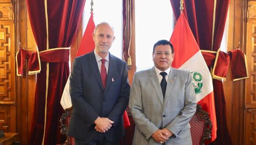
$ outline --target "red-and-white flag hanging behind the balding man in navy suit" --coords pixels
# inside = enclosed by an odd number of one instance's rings
[[[91,51],[94,50],[95,43],[94,43],[94,40],[92,39],[92,33],[94,32],[94,28],[95,28],[95,24],[93,20],[93,12],[90,12],[90,18],[89,18],[87,27],[85,29],[85,32],[83,34],[82,42],[80,43],[79,49],[76,53],[76,57],[90,53]],[[69,77],[70,75],[68,76],[68,81],[64,87],[64,91],[60,99],[60,105],[63,107],[63,109],[72,107],[71,97],[69,94],[69,83],[70,83]],[[123,118],[124,118],[124,128],[129,127],[131,124],[126,111],[124,111]]]

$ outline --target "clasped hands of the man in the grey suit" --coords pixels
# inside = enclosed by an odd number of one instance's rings
[[[166,129],[158,129],[156,130],[153,134],[152,134],[152,138],[154,139],[154,141],[159,142],[159,143],[164,143],[165,141],[167,141],[169,139],[169,137],[171,137],[173,135],[173,133]]]

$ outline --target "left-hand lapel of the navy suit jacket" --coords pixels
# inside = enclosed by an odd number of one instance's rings
[[[98,68],[98,62],[95,58],[94,51],[92,51],[90,53],[90,56],[88,57],[88,63],[89,63],[89,66],[90,66],[90,70],[93,72],[98,84],[100,85],[100,87],[102,88],[102,91],[103,91],[101,73],[100,73],[99,68]]]

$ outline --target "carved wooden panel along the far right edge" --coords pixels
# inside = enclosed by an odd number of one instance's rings
[[[256,144],[256,1],[248,2],[246,55],[249,79],[245,81],[245,145]]]

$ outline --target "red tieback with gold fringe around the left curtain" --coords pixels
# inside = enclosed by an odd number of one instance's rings
[[[16,54],[16,75],[23,76],[23,69],[28,59],[28,74],[34,75],[41,72],[41,62],[68,62],[69,48],[52,48],[45,51],[27,51],[20,49]]]

